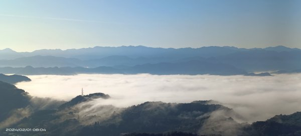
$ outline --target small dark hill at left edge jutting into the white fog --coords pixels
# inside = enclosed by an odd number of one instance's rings
[[[24,75],[16,75],[16,74],[14,74],[14,75],[5,75],[5,74],[0,73],[0,81],[15,84],[15,83],[20,82],[20,81],[31,81],[31,79],[28,78],[27,76],[24,76]]]

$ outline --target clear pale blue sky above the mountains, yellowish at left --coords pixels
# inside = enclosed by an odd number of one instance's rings
[[[0,49],[301,47],[300,0],[1,0]]]

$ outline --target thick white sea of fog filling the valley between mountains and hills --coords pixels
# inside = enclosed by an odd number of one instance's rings
[[[191,102],[217,100],[249,122],[301,110],[301,74],[274,76],[78,74],[31,75],[16,86],[33,96],[70,100],[81,94],[103,92],[109,99],[95,105],[127,107],[145,101]]]

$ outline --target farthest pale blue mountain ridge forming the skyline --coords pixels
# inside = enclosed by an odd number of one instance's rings
[[[156,52],[157,54],[169,54],[172,55],[174,53],[177,54],[186,54],[189,56],[189,53],[193,53],[196,55],[197,53],[203,54],[205,57],[210,56],[216,56],[227,54],[230,52],[235,51],[245,51],[245,50],[253,50],[254,48],[238,48],[235,46],[203,46],[198,48],[192,48],[192,47],[183,47],[183,48],[163,48],[163,47],[147,47],[147,46],[117,46],[117,47],[111,47],[111,46],[94,46],[94,47],[88,47],[88,48],[78,48],[78,49],[39,49],[34,50],[31,52],[16,52],[13,53],[16,55],[18,54],[20,56],[33,56],[33,55],[54,55],[54,56],[62,56],[62,57],[75,57],[79,59],[92,59],[94,58],[101,58],[108,55],[127,55],[130,57],[137,57],[140,56],[146,56],[151,57],[154,56],[152,53]],[[266,50],[277,50],[277,51],[292,51],[292,50],[301,50],[299,48],[289,48],[285,46],[273,46],[273,47],[266,47],[266,48],[260,48],[260,49],[266,49]],[[145,53],[145,50],[147,52]],[[2,50],[0,50],[1,52]],[[97,52],[97,53],[96,53]],[[144,53],[141,53],[144,52]],[[189,52],[189,53],[188,53]],[[84,55],[86,54],[86,55]],[[5,58],[4,56],[2,59]],[[17,58],[17,57],[15,57]]]

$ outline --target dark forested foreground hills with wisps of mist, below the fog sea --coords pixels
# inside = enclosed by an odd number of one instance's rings
[[[252,124],[214,100],[190,103],[144,102],[129,107],[95,104],[110,100],[104,93],[76,96],[61,106],[35,108],[32,97],[0,81],[0,135],[246,135],[301,134],[301,112],[276,115]],[[39,99],[39,104],[43,99]],[[122,102],[122,101],[120,101]],[[7,104],[10,103],[10,104]],[[44,103],[47,105],[47,103]],[[39,105],[42,106],[43,105]],[[35,109],[35,110],[34,110]],[[7,119],[11,122],[8,124]],[[5,131],[5,128],[44,128],[45,131]]]

